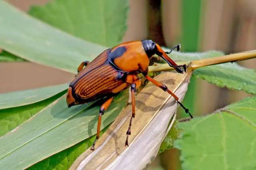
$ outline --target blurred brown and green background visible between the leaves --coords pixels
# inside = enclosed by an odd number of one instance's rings
[[[49,0],[7,1],[28,11],[31,5],[43,5]],[[214,49],[234,53],[256,49],[255,0],[130,0],[129,4],[128,30],[123,42],[152,39],[167,47],[181,43],[181,51]],[[256,59],[240,64],[255,68]],[[0,72],[7,69],[8,74],[0,75],[5,81],[0,93],[66,83],[73,79],[71,73],[35,63],[0,63]],[[36,76],[42,74],[49,76],[45,79]],[[31,77],[35,79],[33,83],[28,81]],[[246,96],[248,94],[242,91],[219,88],[192,78],[184,105],[194,115],[202,115]],[[178,117],[187,115],[181,111]],[[180,169],[177,154],[178,150],[166,150],[149,169]]]

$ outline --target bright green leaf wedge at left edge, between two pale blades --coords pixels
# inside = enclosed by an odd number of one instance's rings
[[[20,107],[12,107],[8,109],[0,110],[0,136],[10,132],[14,128],[21,125],[23,122],[28,120],[30,117],[38,113],[44,107],[48,106],[50,103],[58,99],[65,92],[58,93],[48,99],[44,99],[43,101],[39,101],[36,103],[20,106]],[[13,96],[15,97],[15,96]],[[21,99],[22,100],[22,99]]]

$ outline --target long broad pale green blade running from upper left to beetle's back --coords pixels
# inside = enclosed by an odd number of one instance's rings
[[[106,47],[61,32],[0,0],[0,47],[18,57],[77,73]]]

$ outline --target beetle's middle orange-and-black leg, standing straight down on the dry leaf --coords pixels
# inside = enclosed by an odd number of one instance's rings
[[[130,124],[129,124],[128,130],[126,132],[127,137],[126,137],[126,141],[125,141],[125,146],[129,146],[128,145],[128,136],[131,134],[132,118],[135,117],[135,92],[136,92],[136,84],[138,83],[138,81],[140,81],[140,80],[137,80],[137,81],[135,81],[134,83],[131,84],[131,92],[132,92],[132,117],[130,119]]]

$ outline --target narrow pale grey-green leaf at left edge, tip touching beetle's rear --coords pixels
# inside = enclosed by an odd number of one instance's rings
[[[65,91],[67,88],[68,84],[61,84],[38,89],[2,93],[0,94],[0,109],[24,106],[43,101],[57,93]]]

